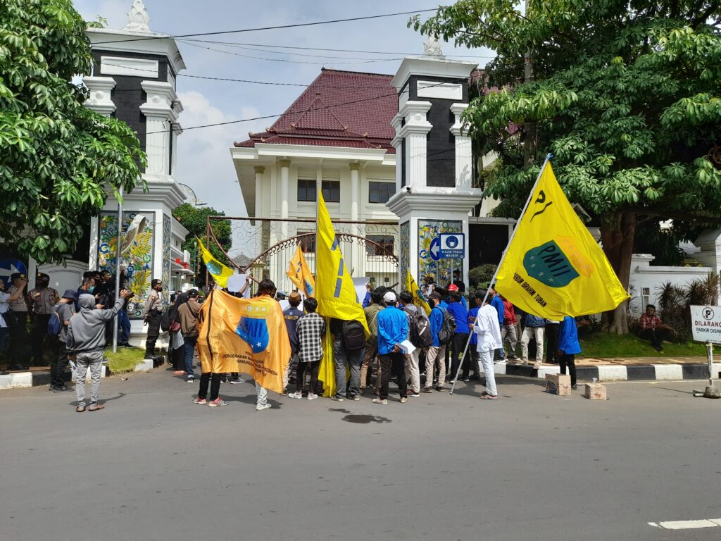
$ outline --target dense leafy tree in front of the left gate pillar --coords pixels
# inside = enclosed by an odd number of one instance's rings
[[[87,89],[71,83],[92,70],[72,1],[1,4],[0,231],[24,256],[61,261],[146,159],[131,128],[84,107]]]

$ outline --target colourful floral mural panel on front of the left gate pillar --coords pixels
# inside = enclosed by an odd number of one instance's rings
[[[121,263],[127,265],[125,274],[127,287],[135,294],[128,302],[128,316],[142,319],[143,307],[150,293],[150,281],[153,276],[153,250],[155,245],[154,221],[152,212],[123,213],[123,234],[128,231],[133,219],[140,214],[146,218],[146,226],[133,241],[130,249],[122,256]],[[107,269],[115,274],[118,242],[118,213],[102,213],[99,219],[98,270]]]

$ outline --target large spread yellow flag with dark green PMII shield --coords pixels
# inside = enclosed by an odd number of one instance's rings
[[[496,278],[517,307],[550,320],[616,308],[629,295],[547,163]]]

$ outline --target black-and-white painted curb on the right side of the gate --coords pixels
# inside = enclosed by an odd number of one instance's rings
[[[546,374],[560,374],[561,367],[549,364],[534,369],[531,365],[506,364],[500,362],[493,367],[496,374],[545,379]],[[721,378],[721,363],[714,363],[713,375]],[[598,366],[576,366],[578,379],[599,382],[630,382],[663,379],[708,379],[709,366],[702,363],[687,364],[600,364]]]

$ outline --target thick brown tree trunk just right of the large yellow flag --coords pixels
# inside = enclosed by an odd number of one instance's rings
[[[611,268],[619,277],[621,285],[628,290],[631,276],[631,256],[633,255],[634,235],[636,232],[636,214],[632,211],[617,212],[610,221],[601,225],[603,252],[609,258]],[[614,310],[603,315],[602,328],[614,334],[628,334],[628,301],[619,304]]]

